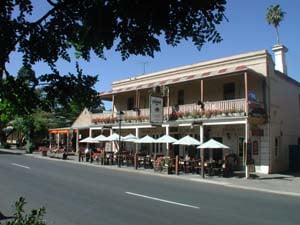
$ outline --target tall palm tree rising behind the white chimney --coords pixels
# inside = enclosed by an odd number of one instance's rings
[[[271,24],[274,26],[277,36],[277,44],[279,44],[279,31],[278,26],[279,23],[283,20],[285,12],[283,12],[280,8],[280,5],[271,5],[267,9],[267,15],[266,20],[268,24]]]

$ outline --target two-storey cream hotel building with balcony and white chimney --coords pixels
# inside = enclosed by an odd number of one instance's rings
[[[289,145],[300,140],[300,84],[287,75],[287,49],[277,45],[273,51],[276,65],[261,50],[115,81],[111,91],[100,93],[112,110],[85,110],[73,128],[79,135],[88,129],[93,137],[117,132],[154,138],[190,135],[201,142],[214,138],[230,147],[241,168],[251,160],[257,172],[287,170]],[[159,126],[153,124],[149,96],[163,100]],[[131,148],[180,156],[188,151],[199,157],[196,148],[186,146]]]

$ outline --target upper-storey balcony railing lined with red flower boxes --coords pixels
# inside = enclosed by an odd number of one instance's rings
[[[139,113],[133,110],[123,110],[124,123],[149,122],[149,108],[139,109]],[[198,104],[185,104],[178,106],[164,107],[164,120],[211,118],[216,116],[244,116],[246,112],[245,99],[224,100],[204,102],[204,107]],[[116,115],[101,115],[93,119],[93,123],[115,123]]]

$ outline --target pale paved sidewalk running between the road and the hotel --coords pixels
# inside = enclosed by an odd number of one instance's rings
[[[14,153],[14,154],[25,154],[24,151],[21,150],[4,150],[0,149],[2,152]],[[153,176],[164,176],[170,179],[184,179],[193,182],[204,182],[211,183],[216,185],[223,185],[231,188],[245,189],[245,190],[253,190],[253,191],[261,191],[268,192],[280,195],[290,195],[300,197],[300,173],[292,174],[258,174],[253,173],[249,179],[241,176],[234,176],[230,178],[224,177],[206,177],[202,179],[199,174],[180,174],[180,175],[167,175],[156,173],[153,169],[138,169],[135,170],[133,167],[122,167],[118,168],[117,166],[107,166],[107,165],[99,165],[97,163],[89,163],[89,162],[78,162],[78,156],[68,156],[68,160],[62,160],[57,158],[51,158],[48,156],[42,156],[41,153],[33,153],[26,154],[27,156],[36,157],[40,159],[47,160],[57,160],[65,163],[75,163],[81,164],[85,166],[93,166],[98,168],[105,169],[114,169],[118,171],[126,171],[132,173],[143,173],[147,175]]]

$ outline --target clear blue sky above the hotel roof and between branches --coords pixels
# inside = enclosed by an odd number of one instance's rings
[[[201,51],[198,51],[190,41],[183,41],[177,47],[171,47],[162,39],[161,52],[156,53],[154,58],[131,56],[122,61],[119,53],[110,50],[106,52],[107,60],[93,56],[90,62],[79,60],[79,63],[85,74],[99,75],[99,82],[95,88],[101,92],[111,90],[113,81],[143,74],[144,65],[145,72],[151,73],[262,49],[267,49],[273,55],[271,48],[276,44],[276,34],[274,28],[267,24],[265,15],[267,8],[274,4],[279,4],[286,12],[279,32],[281,43],[289,49],[288,75],[300,81],[299,0],[228,0],[225,15],[229,22],[224,20],[217,27],[223,41],[217,44],[208,43]],[[39,9],[42,14],[43,8]],[[7,66],[8,71],[16,74],[20,66],[20,57],[12,54],[11,63]],[[38,63],[34,69],[37,75],[50,71],[43,63]],[[61,74],[75,72],[75,60],[71,63],[59,61],[58,69]]]

